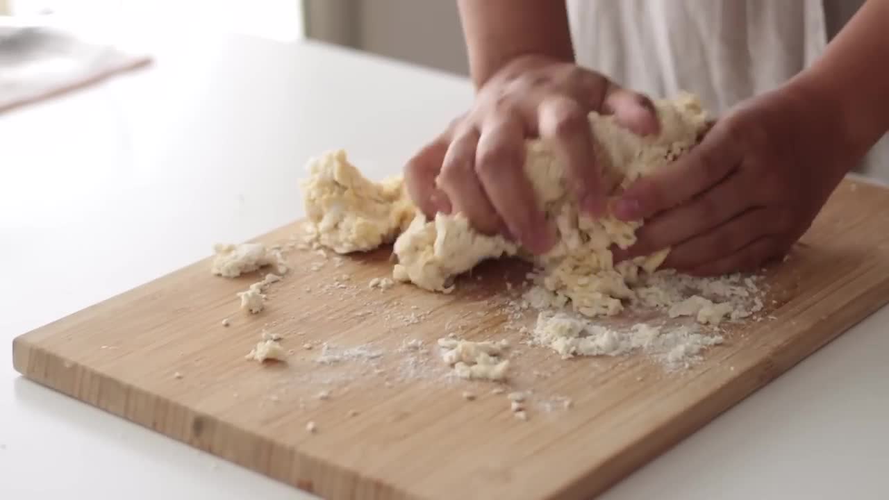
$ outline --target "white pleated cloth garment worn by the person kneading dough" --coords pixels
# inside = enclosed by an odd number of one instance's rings
[[[717,115],[812,64],[861,4],[567,0],[581,65],[652,97],[696,93]],[[889,181],[889,141],[881,142],[864,170]]]

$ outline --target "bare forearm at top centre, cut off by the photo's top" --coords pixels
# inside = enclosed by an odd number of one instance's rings
[[[519,56],[574,59],[564,1],[458,0],[458,5],[476,87]]]

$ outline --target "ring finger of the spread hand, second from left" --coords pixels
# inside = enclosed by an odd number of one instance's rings
[[[466,215],[476,230],[493,234],[501,231],[502,222],[476,175],[477,145],[475,127],[458,132],[445,154],[436,183],[451,200],[453,212]]]

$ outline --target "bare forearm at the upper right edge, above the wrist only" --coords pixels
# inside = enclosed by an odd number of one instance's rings
[[[835,109],[843,136],[862,155],[889,130],[889,0],[868,0],[791,85]]]

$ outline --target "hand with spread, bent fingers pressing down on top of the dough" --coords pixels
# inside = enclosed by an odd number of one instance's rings
[[[619,180],[605,179],[596,165],[588,119],[594,110],[641,135],[658,131],[645,96],[573,63],[517,58],[479,89],[469,112],[405,165],[408,193],[429,218],[461,212],[477,230],[543,254],[556,243],[555,228],[525,177],[525,139],[549,141],[565,162],[581,210],[602,214]]]

